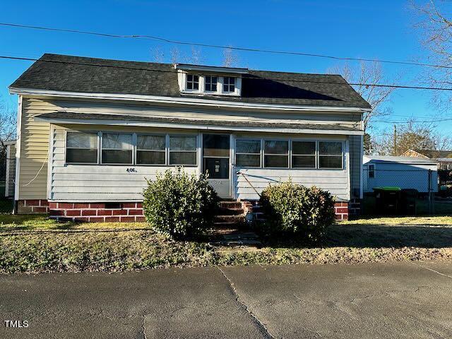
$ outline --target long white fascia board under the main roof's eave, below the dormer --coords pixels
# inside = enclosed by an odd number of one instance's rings
[[[227,102],[222,100],[209,100],[198,97],[161,97],[156,95],[110,94],[110,93],[79,93],[58,90],[35,90],[31,88],[9,88],[10,94],[31,95],[37,97],[69,97],[80,99],[106,99],[139,102],[154,102],[172,105],[195,105],[208,107],[225,107],[238,109],[269,109],[281,111],[316,111],[316,112],[369,112],[371,109],[360,107],[331,107],[331,106],[299,106],[257,104],[249,102]]]

